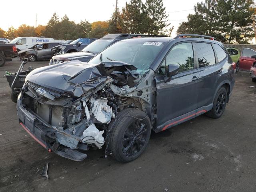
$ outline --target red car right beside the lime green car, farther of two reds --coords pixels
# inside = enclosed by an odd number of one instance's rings
[[[249,71],[252,64],[255,62],[255,58],[251,58],[254,55],[256,55],[256,51],[249,48],[242,48],[242,53],[238,63],[239,69]]]

